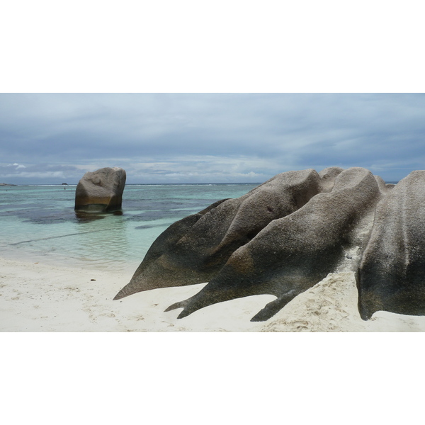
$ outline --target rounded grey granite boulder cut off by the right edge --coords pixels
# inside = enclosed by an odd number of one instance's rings
[[[378,310],[425,314],[425,171],[413,171],[378,204],[358,269],[363,319]]]

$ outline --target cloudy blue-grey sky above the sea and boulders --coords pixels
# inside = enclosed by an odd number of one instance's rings
[[[261,183],[362,166],[399,181],[425,164],[424,94],[0,94],[0,183]]]

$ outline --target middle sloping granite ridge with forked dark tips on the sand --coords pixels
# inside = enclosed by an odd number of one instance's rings
[[[274,220],[251,242],[234,251],[208,285],[189,300],[179,318],[202,307],[248,295],[277,300],[253,320],[266,320],[296,295],[334,271],[352,245],[356,223],[375,208],[380,189],[373,174],[351,168],[336,176],[329,193],[319,193],[292,214]]]

